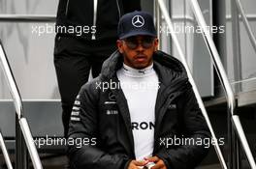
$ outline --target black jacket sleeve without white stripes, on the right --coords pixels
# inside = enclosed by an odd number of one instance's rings
[[[190,84],[189,84],[190,85]],[[210,139],[206,120],[198,106],[191,87],[178,100],[178,114],[181,114],[181,130],[184,137],[195,141]],[[199,144],[185,144],[175,149],[164,149],[158,156],[164,160],[167,168],[188,169],[197,166],[208,154],[208,146]]]

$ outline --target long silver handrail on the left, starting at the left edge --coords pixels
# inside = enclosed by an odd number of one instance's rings
[[[30,129],[28,127],[26,119],[23,117],[23,108],[22,108],[21,98],[20,98],[18,89],[16,87],[16,81],[12,73],[12,70],[10,68],[2,42],[0,42],[0,63],[4,70],[4,74],[7,79],[11,95],[14,99],[17,120],[19,122],[19,126],[21,127],[22,134],[25,139],[25,143],[29,151],[33,166],[35,169],[43,169]]]

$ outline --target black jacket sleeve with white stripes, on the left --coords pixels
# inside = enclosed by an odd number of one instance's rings
[[[82,145],[70,145],[68,156],[72,169],[124,169],[129,162],[126,155],[109,155],[97,142],[97,94],[93,87],[85,86],[77,97],[69,127],[69,140]],[[85,142],[84,142],[85,140]],[[89,144],[88,143],[89,140]],[[75,141],[78,143],[78,141]],[[85,143],[85,144],[84,144]]]

